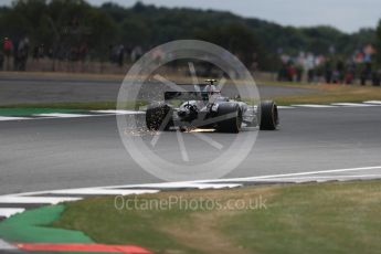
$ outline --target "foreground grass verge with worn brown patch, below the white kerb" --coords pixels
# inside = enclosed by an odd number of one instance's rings
[[[54,226],[100,243],[139,244],[155,253],[379,253],[381,181],[308,183],[130,195],[181,202],[171,209],[116,210],[114,198],[68,203]],[[226,208],[262,198],[266,209]],[[184,200],[199,209],[184,210]],[[209,200],[208,202],[205,200]],[[194,204],[194,203],[193,203]],[[166,207],[168,208],[168,207]],[[205,208],[205,205],[203,205]]]

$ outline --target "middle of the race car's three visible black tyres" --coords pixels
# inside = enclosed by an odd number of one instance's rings
[[[220,104],[216,117],[226,117],[218,123],[218,131],[237,134],[242,127],[242,112],[237,104]]]

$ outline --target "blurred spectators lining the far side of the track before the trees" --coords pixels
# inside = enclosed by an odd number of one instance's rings
[[[336,56],[332,51],[327,56],[305,52],[300,52],[297,56],[279,54],[282,66],[277,80],[348,85],[371,83],[373,86],[380,86],[381,68],[372,63],[374,53],[373,47],[367,45],[346,61]],[[85,62],[88,59],[88,47],[84,42],[65,49],[60,46],[45,49],[43,43],[38,43],[31,50],[28,36],[21,40],[4,38],[0,52],[0,71],[25,71],[30,54],[33,62],[44,57]],[[124,44],[109,44],[108,46],[108,61],[119,67],[123,67],[125,62],[134,63],[142,54],[144,50],[139,45],[129,47]]]

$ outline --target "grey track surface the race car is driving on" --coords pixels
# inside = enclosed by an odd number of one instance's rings
[[[282,109],[281,129],[260,131],[251,155],[226,177],[380,166],[380,115],[381,107]],[[231,138],[205,135],[221,144]],[[0,140],[0,194],[160,181],[125,151],[115,116],[2,121]],[[192,158],[213,152],[195,139],[186,144]],[[165,147],[163,156],[180,157],[178,147]]]

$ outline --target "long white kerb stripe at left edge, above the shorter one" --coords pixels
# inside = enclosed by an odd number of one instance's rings
[[[49,193],[49,191],[45,191]],[[72,197],[14,197],[14,195],[1,195],[0,203],[50,203],[57,204],[66,201],[77,201],[81,198]]]

